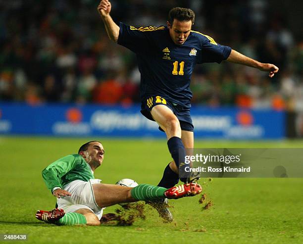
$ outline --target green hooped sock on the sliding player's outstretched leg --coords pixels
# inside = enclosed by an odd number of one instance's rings
[[[153,200],[165,198],[164,192],[167,189],[164,187],[155,187],[148,184],[140,184],[131,191],[133,198],[137,200]]]

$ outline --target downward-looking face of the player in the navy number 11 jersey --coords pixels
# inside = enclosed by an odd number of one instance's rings
[[[174,19],[172,24],[167,21],[167,26],[169,28],[169,35],[172,41],[176,45],[180,46],[185,43],[191,33],[192,21],[179,21]]]

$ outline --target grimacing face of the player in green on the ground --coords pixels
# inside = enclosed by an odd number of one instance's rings
[[[89,144],[83,155],[86,162],[94,167],[98,167],[102,164],[104,158],[104,148],[99,142],[92,142]]]

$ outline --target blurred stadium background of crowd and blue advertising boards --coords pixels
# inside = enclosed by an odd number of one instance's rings
[[[227,62],[197,65],[192,113],[197,137],[281,139],[303,134],[302,2],[295,3],[113,0],[112,16],[158,26],[171,7],[191,7],[194,30],[276,64],[273,79]],[[136,57],[108,40],[96,4],[0,1],[1,134],[161,136],[139,113]]]

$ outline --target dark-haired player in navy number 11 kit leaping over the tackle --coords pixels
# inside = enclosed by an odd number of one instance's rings
[[[190,79],[195,65],[227,60],[267,71],[269,77],[273,77],[279,69],[193,31],[195,13],[189,8],[171,9],[167,26],[140,28],[121,22],[116,25],[110,16],[109,0],[101,0],[98,11],[109,39],[137,54],[141,73],[141,113],[156,121],[159,129],[166,133],[168,149],[173,158],[166,166],[158,186],[172,187],[179,181],[179,166],[183,165],[185,148],[194,148]],[[183,182],[191,180],[191,177],[181,179]]]

